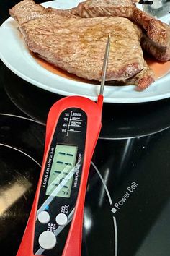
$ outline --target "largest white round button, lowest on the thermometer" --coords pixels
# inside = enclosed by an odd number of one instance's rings
[[[53,249],[57,242],[56,236],[52,231],[44,231],[40,234],[38,242],[42,249]]]

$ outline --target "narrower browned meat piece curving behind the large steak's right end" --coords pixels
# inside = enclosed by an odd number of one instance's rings
[[[140,25],[150,38],[146,43],[148,52],[158,60],[168,61],[170,59],[169,54],[167,54],[170,51],[170,26],[136,8],[130,0],[87,0],[76,7],[76,13],[81,17],[128,17],[137,25]],[[145,40],[145,37],[143,40]],[[156,50],[153,51],[155,47]],[[160,53],[158,53],[159,49]]]

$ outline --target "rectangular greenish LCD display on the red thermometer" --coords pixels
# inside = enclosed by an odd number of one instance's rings
[[[70,197],[76,155],[76,146],[56,145],[46,195]]]

